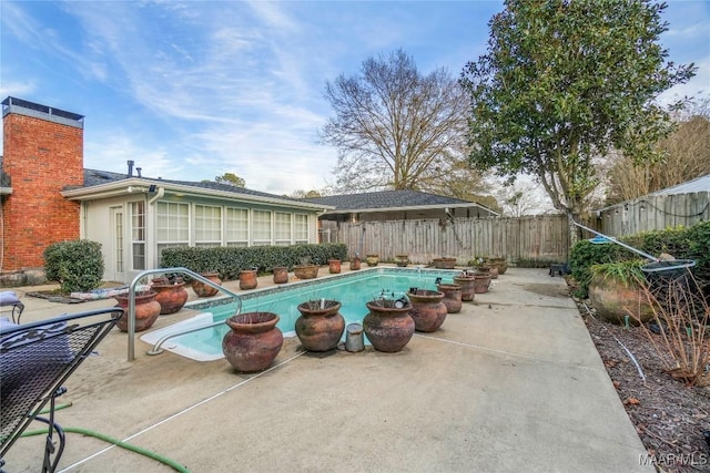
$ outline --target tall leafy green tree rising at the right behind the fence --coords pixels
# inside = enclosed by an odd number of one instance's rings
[[[659,158],[671,131],[653,100],[693,75],[658,44],[666,4],[647,0],[507,0],[489,22],[485,55],[469,62],[471,162],[499,175],[528,173],[555,208],[578,218],[598,185],[592,160],[617,148]]]

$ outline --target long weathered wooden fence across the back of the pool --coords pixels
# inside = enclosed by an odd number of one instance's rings
[[[564,215],[341,223],[334,233],[348,256],[377,254],[383,261],[407,254],[414,264],[456,257],[465,265],[477,256],[504,256],[511,265],[544,266],[566,261],[569,253]]]

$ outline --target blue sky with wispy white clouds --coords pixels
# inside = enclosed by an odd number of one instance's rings
[[[0,1],[0,95],[85,115],[84,166],[291,194],[334,181],[326,81],[403,49],[458,76],[499,1]],[[662,44],[710,94],[710,2],[670,1]]]

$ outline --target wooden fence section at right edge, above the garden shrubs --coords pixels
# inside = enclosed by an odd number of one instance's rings
[[[689,227],[710,219],[710,192],[647,195],[601,209],[597,216],[597,228],[609,236]]]

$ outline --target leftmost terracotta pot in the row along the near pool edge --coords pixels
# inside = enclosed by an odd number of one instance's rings
[[[274,362],[284,342],[278,320],[273,312],[244,312],[226,319],[232,330],[222,339],[222,352],[234,369],[248,373]]]

